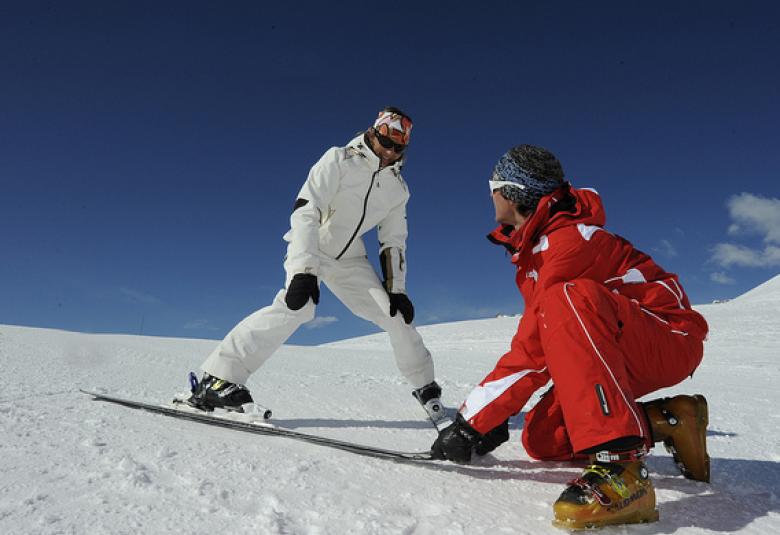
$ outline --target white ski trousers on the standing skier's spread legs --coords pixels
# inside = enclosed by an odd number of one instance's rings
[[[252,313],[228,333],[201,368],[210,375],[245,384],[254,373],[302,324],[314,319],[315,305],[309,300],[300,310],[284,302],[293,274],[287,272],[285,289],[273,303]],[[320,281],[356,316],[366,319],[390,335],[390,344],[401,374],[413,388],[434,380],[433,359],[417,330],[399,313],[390,317],[371,296],[386,295],[374,268],[366,257],[342,260],[322,259]],[[378,292],[378,294],[376,293]]]

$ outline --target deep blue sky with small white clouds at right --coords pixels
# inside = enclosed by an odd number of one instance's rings
[[[780,272],[772,2],[5,2],[0,323],[221,338],[283,283],[310,166],[396,105],[417,323],[518,313],[485,234],[520,143],[692,301]],[[376,240],[367,237],[370,251]],[[374,255],[375,256],[375,253]],[[327,291],[291,343],[374,332]]]

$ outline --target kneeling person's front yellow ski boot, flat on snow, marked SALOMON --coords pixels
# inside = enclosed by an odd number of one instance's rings
[[[655,522],[655,490],[641,456],[599,453],[596,460],[571,481],[553,505],[553,525],[563,529],[593,529],[613,524]],[[594,458],[591,458],[593,461]]]

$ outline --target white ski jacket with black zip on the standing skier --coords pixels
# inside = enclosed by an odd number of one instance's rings
[[[346,147],[331,147],[309,171],[284,235],[286,269],[318,275],[323,256],[366,256],[361,236],[377,227],[387,290],[406,292],[406,203],[402,160],[379,168],[360,134]]]

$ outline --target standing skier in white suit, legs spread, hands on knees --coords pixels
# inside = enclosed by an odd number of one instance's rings
[[[405,287],[409,191],[401,167],[411,127],[408,116],[386,108],[372,128],[346,147],[330,148],[311,168],[284,236],[285,288],[271,305],[238,323],[206,359],[201,366],[204,380],[191,404],[206,410],[230,405],[225,398],[235,396],[225,392],[225,385],[245,390],[242,385],[249,376],[314,318],[320,281],[356,316],[390,335],[398,369],[418,401],[424,406],[431,397],[439,401],[433,360],[411,325],[414,307]],[[384,284],[369,263],[361,238],[374,227]],[[213,384],[204,384],[209,382]]]

